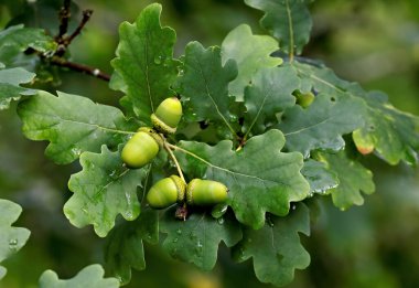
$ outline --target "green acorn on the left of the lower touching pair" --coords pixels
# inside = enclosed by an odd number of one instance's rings
[[[182,203],[186,184],[178,175],[171,175],[158,181],[147,194],[147,202],[153,209],[165,209],[174,203]]]

